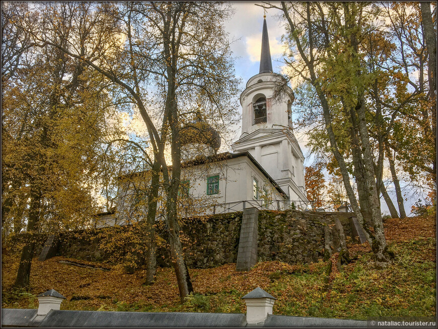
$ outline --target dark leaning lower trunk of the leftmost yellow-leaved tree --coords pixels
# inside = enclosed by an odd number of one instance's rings
[[[21,253],[20,265],[18,266],[17,278],[15,279],[15,286],[17,287],[28,286],[30,280],[30,270],[35,249],[35,232],[38,226],[41,199],[38,194],[33,194],[29,209],[29,222],[27,225],[29,239],[26,241]]]

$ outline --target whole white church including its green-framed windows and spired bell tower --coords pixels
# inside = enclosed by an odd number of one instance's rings
[[[280,97],[274,98],[279,83],[286,87]],[[293,133],[292,102],[294,93],[287,81],[272,71],[265,19],[260,71],[248,80],[240,96],[242,134],[231,145],[233,153],[196,157],[183,164],[181,197],[190,200],[183,207],[183,216],[242,211],[247,207],[307,208],[304,156]],[[219,145],[220,141],[214,148]],[[122,179],[115,211],[99,214],[101,224],[97,227],[125,223],[132,204],[127,200],[132,195],[131,182]]]

